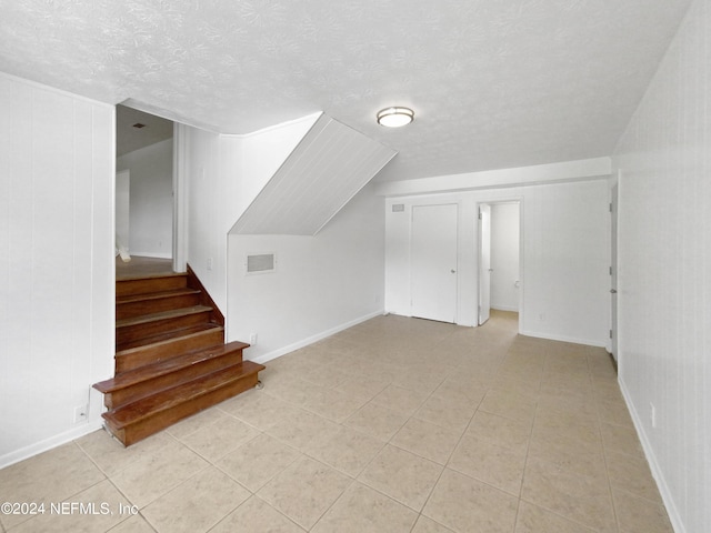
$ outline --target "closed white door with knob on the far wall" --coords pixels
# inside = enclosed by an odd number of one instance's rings
[[[412,208],[412,315],[457,321],[457,204]]]

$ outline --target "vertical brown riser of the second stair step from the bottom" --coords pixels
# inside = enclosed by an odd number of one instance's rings
[[[208,359],[207,361],[191,364],[186,369],[180,369],[169,374],[153,378],[149,381],[137,383],[134,385],[127,386],[126,389],[104,394],[103,404],[109,410],[117,409],[121,405],[144,398],[148,394],[161,391],[172,385],[177,385],[191,379],[196,379],[210,372],[217,372],[219,370],[227,369],[228,366],[240,363],[241,361],[241,350],[226,353],[220,358]]]

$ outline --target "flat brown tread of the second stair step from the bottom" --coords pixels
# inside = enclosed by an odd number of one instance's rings
[[[184,352],[170,359],[164,359],[156,363],[147,364],[133,370],[127,370],[114,378],[94,384],[94,389],[107,394],[119,389],[124,389],[136,383],[152,380],[154,378],[176,372],[180,369],[207,361],[209,359],[221,358],[229,353],[249,348],[246,342],[230,342],[214,346]]]

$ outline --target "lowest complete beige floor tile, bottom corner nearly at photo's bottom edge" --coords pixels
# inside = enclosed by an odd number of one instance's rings
[[[257,494],[297,524],[310,529],[352,480],[323,463],[301,457]]]

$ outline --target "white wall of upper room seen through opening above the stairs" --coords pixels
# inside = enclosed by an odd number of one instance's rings
[[[117,171],[131,172],[129,251],[149,258],[172,257],[173,140],[123,154]]]

